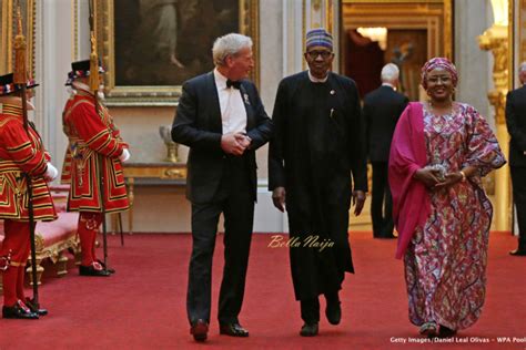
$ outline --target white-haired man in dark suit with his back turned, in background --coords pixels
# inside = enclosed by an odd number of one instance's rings
[[[396,122],[408,102],[405,95],[396,92],[398,75],[396,64],[386,64],[382,69],[382,86],[364,99],[367,154],[373,165],[371,216],[374,238],[394,238],[393,199],[387,181],[387,164]]]

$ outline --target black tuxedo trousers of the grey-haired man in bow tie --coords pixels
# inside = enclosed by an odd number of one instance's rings
[[[239,322],[254,220],[254,194],[243,157],[226,157],[211,203],[192,203],[192,255],[186,311],[190,323],[210,322],[212,259],[220,215],[224,217],[224,267],[219,297],[220,323]]]

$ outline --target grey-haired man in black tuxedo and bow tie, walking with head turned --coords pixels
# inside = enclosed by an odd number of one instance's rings
[[[255,150],[272,121],[253,83],[252,40],[232,33],[215,40],[214,71],[183,84],[173,141],[190,147],[186,197],[192,203],[192,256],[186,310],[191,333],[204,341],[210,322],[212,256],[224,215],[224,270],[219,298],[220,332],[247,337],[237,316],[243,301],[256,200]]]

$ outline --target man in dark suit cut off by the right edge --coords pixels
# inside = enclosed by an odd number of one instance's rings
[[[509,254],[526,256],[526,62],[520,64],[519,80],[523,86],[508,92],[506,97],[506,125],[512,136],[509,168],[518,222],[518,247]]]

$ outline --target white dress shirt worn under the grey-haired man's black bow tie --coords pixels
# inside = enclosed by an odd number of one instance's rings
[[[246,110],[241,91],[233,86],[226,87],[226,76],[214,69],[215,87],[221,106],[223,135],[229,133],[246,133]]]

